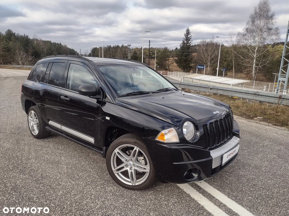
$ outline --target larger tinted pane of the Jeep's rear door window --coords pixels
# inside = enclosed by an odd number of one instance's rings
[[[53,62],[47,83],[53,86],[61,86],[64,69],[65,63]]]

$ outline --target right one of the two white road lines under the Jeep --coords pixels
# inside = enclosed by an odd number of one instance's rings
[[[252,213],[244,209],[242,206],[240,206],[238,203],[234,202],[224,194],[222,194],[220,191],[209,185],[208,183],[204,181],[196,182],[197,185],[199,185],[201,188],[212,194],[215,198],[223,202],[226,206],[228,206],[230,209],[232,209],[234,212],[236,212],[240,216],[254,216]]]

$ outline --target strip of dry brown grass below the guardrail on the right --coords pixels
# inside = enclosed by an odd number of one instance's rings
[[[260,120],[263,122],[289,128],[289,106],[272,105],[259,102],[249,103],[247,102],[247,99],[234,98],[226,95],[206,94],[203,92],[194,93],[208,96],[229,104],[234,115],[248,119],[262,117]]]

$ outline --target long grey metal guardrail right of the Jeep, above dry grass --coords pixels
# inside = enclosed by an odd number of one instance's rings
[[[247,90],[247,89],[236,89],[227,88],[222,86],[205,85],[198,83],[185,83],[175,80],[170,80],[176,87],[190,89],[194,91],[209,92],[214,94],[223,94],[228,96],[246,98],[256,101],[263,101],[268,103],[276,103],[282,105],[289,105],[288,94],[275,94],[265,91]]]

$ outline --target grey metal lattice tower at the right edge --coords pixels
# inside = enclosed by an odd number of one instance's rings
[[[283,94],[287,93],[288,86],[288,78],[289,78],[289,22],[287,27],[287,34],[284,43],[283,55],[280,65],[279,77],[277,82],[276,93],[279,91],[283,92]]]

